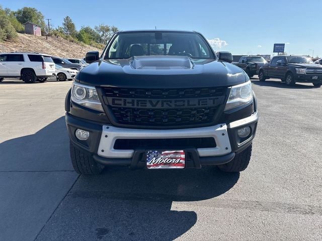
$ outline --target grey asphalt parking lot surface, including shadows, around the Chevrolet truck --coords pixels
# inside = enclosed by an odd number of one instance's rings
[[[0,240],[321,240],[322,87],[252,79],[260,121],[246,171],[76,174],[71,81],[0,83]]]

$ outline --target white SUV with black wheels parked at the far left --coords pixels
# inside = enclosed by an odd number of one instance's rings
[[[45,82],[55,74],[51,56],[39,53],[0,53],[0,81],[19,78],[25,83]]]

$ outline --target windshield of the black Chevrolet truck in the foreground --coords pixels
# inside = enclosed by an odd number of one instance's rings
[[[214,59],[209,45],[200,34],[159,31],[118,34],[104,59],[127,59],[133,56],[149,55]]]

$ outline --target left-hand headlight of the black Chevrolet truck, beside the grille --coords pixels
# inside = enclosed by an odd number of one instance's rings
[[[91,109],[104,111],[94,86],[79,84],[74,81],[71,86],[71,100]]]

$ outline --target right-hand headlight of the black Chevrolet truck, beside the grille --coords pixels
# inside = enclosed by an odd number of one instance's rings
[[[243,84],[232,86],[225,110],[232,109],[253,101],[252,82],[247,81]]]

